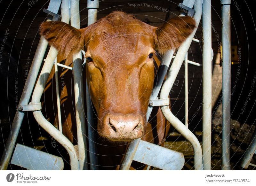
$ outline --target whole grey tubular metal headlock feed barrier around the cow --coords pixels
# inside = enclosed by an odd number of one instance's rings
[[[231,0],[221,1],[222,7],[222,58],[223,58],[223,73],[222,73],[222,124],[223,132],[222,139],[222,169],[230,170],[230,4]],[[153,106],[161,106],[161,110],[165,118],[171,123],[171,125],[180,132],[193,146],[194,149],[194,168],[195,170],[210,170],[211,169],[211,115],[212,115],[212,35],[211,35],[211,0],[184,0],[178,5],[182,10],[179,16],[193,16],[196,21],[196,28],[193,33],[187,38],[187,40],[180,46],[176,55],[173,56],[174,51],[169,50],[162,58],[161,64],[158,69],[158,81],[154,87],[147,111],[147,121],[152,112]],[[56,21],[60,18],[58,15],[59,8],[61,8],[61,21],[69,23],[75,28],[80,28],[79,17],[79,1],[78,0],[51,0],[47,10],[48,14],[52,15],[52,20]],[[88,0],[88,26],[97,20],[97,8],[99,8],[98,0]],[[185,13],[184,13],[185,12]],[[193,38],[196,29],[199,25],[202,16],[203,26],[203,64],[199,64],[188,60],[188,49],[191,42],[199,42]],[[73,55],[73,68],[57,63],[58,51],[51,46],[46,59],[44,60],[44,54],[47,48],[48,42],[41,36],[38,43],[36,53],[28,74],[26,89],[24,88],[22,96],[19,102],[19,109],[12,122],[12,129],[5,144],[5,151],[2,155],[0,168],[6,170],[9,163],[16,164],[21,167],[25,167],[32,170],[62,170],[63,160],[60,157],[56,157],[35,149],[29,149],[24,145],[16,144],[17,136],[24,118],[25,112],[32,111],[38,124],[44,128],[54,139],[56,139],[67,151],[70,158],[71,170],[97,170],[98,158],[96,155],[95,136],[93,134],[93,119],[92,119],[92,104],[90,100],[90,92],[87,82],[85,83],[86,93],[84,94],[84,80],[82,77],[82,56],[81,52]],[[42,62],[44,65],[42,70]],[[171,63],[172,61],[172,63]],[[177,74],[183,64],[185,63],[185,125],[175,117],[169,108],[169,93],[175,82]],[[188,129],[188,63],[203,66],[203,143],[202,147],[196,136]],[[170,66],[170,64],[172,64]],[[57,110],[59,118],[59,128],[55,128],[48,120],[45,119],[41,112],[40,99],[44,92],[46,81],[55,66],[55,81],[56,81],[56,95],[57,95]],[[58,68],[61,66],[73,71],[74,77],[74,92],[76,103],[76,127],[77,127],[77,142],[78,142],[78,154],[77,156],[74,145],[68,140],[61,131],[61,113],[60,113],[60,95],[58,87]],[[39,75],[38,75],[39,74]],[[166,76],[166,80],[164,78]],[[38,78],[37,82],[36,79]],[[35,88],[34,88],[35,86]],[[84,100],[84,95],[85,100]],[[160,95],[158,97],[158,95]],[[31,102],[29,102],[31,98]],[[87,121],[85,120],[85,108],[84,101],[86,101]],[[87,125],[86,125],[87,124]],[[86,126],[88,130],[88,142],[86,142]],[[88,144],[88,146],[87,146]],[[14,148],[15,147],[15,148]],[[145,147],[152,149],[146,153]],[[14,151],[15,149],[15,151]],[[35,155],[38,161],[32,162],[26,159],[27,154],[23,152],[29,152],[30,155]],[[87,154],[88,152],[88,154]],[[144,155],[143,155],[144,154]],[[160,154],[160,155],[159,155]],[[90,162],[88,162],[88,156]],[[156,157],[157,158],[152,158]],[[22,158],[21,158],[22,157]],[[22,159],[24,161],[22,162]],[[159,160],[161,159],[161,160]],[[164,160],[163,160],[164,159]],[[12,160],[12,161],[11,161]],[[131,166],[132,160],[140,161],[150,166],[158,167],[164,170],[180,170],[184,165],[183,154],[168,150],[164,147],[145,142],[141,139],[133,140],[125,154],[123,163],[120,167],[121,170],[128,170]],[[175,161],[173,161],[175,160]],[[54,162],[58,162],[54,164]],[[37,164],[37,166],[35,165]],[[165,164],[165,165],[164,165]],[[48,166],[46,166],[48,165]]]

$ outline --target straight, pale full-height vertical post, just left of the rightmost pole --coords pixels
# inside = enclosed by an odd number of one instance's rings
[[[212,139],[212,18],[211,0],[203,0],[203,159],[211,170]]]

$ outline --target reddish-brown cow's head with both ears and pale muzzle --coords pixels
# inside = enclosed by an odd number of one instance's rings
[[[98,132],[112,141],[144,135],[154,81],[153,55],[175,50],[195,21],[177,17],[152,27],[124,12],[113,12],[83,29],[44,22],[40,34],[64,56],[84,50],[86,79],[98,114]]]

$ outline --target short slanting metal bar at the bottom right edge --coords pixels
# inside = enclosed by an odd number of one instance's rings
[[[241,162],[241,167],[248,168],[252,160],[253,154],[256,153],[256,129],[254,129],[251,141]]]

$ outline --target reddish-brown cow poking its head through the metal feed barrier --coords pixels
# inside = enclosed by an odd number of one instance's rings
[[[59,51],[59,62],[72,66],[72,55],[85,51],[86,81],[97,117],[102,169],[118,169],[131,140],[142,138],[158,144],[167,135],[170,123],[164,119],[160,107],[154,107],[146,121],[159,66],[156,55],[177,49],[195,27],[195,20],[188,16],[172,18],[160,27],[153,27],[121,11],[112,12],[82,29],[60,21],[41,24],[40,35]],[[45,94],[47,90],[52,93],[50,87],[55,87],[53,72]],[[75,144],[72,72],[63,69],[62,77],[66,79],[65,85],[60,84],[62,130]],[[52,118],[57,120],[56,114]]]

